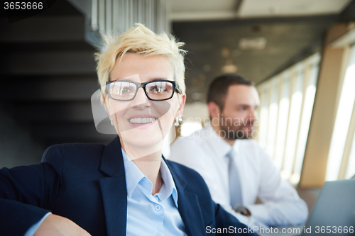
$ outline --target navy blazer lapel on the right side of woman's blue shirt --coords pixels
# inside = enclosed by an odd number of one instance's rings
[[[178,210],[185,224],[186,234],[190,236],[201,235],[201,232],[205,232],[205,229],[198,197],[195,193],[186,190],[185,180],[182,179],[178,173],[174,172],[169,162],[166,163],[168,164],[178,191]]]

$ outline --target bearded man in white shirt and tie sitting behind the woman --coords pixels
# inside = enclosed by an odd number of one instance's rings
[[[233,74],[217,77],[207,95],[210,125],[175,140],[170,159],[199,172],[212,199],[242,223],[301,225],[308,215],[305,201],[251,139],[259,103],[249,80]],[[257,198],[262,203],[256,204]]]

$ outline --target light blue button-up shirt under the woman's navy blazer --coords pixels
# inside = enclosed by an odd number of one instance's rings
[[[178,211],[178,191],[163,158],[160,175],[164,181],[152,196],[153,184],[122,150],[127,186],[126,235],[186,235]]]

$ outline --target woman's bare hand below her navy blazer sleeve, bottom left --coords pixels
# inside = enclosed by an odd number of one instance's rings
[[[34,236],[89,236],[79,225],[59,215],[48,215]]]

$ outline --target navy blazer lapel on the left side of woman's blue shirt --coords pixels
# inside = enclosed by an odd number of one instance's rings
[[[100,171],[108,175],[99,180],[104,201],[107,235],[126,235],[127,188],[124,161],[118,137],[105,147]]]

